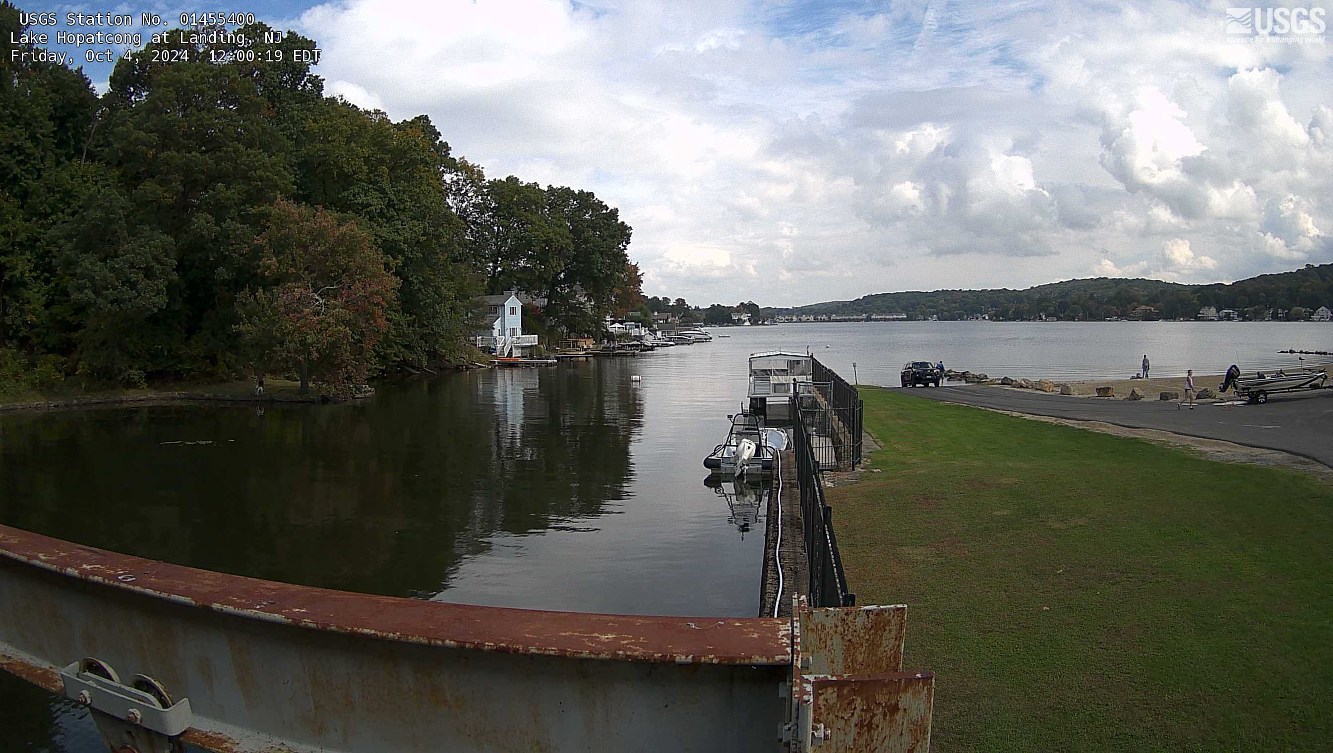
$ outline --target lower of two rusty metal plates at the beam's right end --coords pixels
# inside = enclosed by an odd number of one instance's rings
[[[820,749],[884,753],[930,749],[934,673],[814,677],[810,686]]]

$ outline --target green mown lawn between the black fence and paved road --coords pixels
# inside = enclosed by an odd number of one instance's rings
[[[861,388],[828,489],[857,604],[908,604],[934,750],[1329,750],[1333,485]]]

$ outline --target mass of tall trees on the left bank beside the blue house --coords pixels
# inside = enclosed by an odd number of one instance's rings
[[[299,375],[333,390],[465,357],[483,293],[548,331],[643,305],[631,228],[593,193],[488,180],[425,116],[324,96],[264,24],[177,31],[81,71],[32,61],[0,3],[0,381]],[[251,60],[247,63],[243,60]],[[3,386],[0,386],[3,389]]]

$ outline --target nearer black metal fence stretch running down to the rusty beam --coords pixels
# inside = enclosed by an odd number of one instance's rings
[[[846,588],[842,556],[833,533],[833,508],[824,504],[824,480],[814,460],[810,432],[804,421],[792,422],[796,482],[800,485],[801,520],[805,524],[805,557],[810,568],[809,600],[814,606],[854,606]]]

